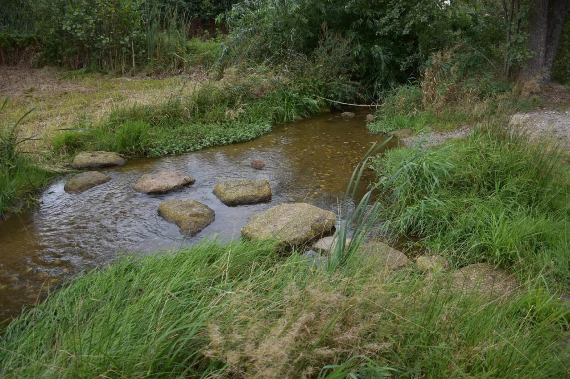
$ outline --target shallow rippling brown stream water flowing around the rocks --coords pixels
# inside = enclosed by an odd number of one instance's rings
[[[61,178],[42,193],[38,207],[0,224],[0,322],[18,315],[23,304],[37,302],[63,278],[112,261],[121,252],[178,249],[206,236],[239,237],[251,215],[281,203],[305,201],[337,212],[354,167],[372,143],[383,140],[368,133],[364,114],[350,119],[329,114],[278,126],[250,142],[131,159],[101,169],[112,180],[79,194],[64,192],[67,178]],[[267,166],[254,170],[252,159]],[[165,195],[133,191],[141,175],[157,171],[182,171],[196,183]],[[370,181],[372,172],[367,175]],[[269,180],[271,202],[223,205],[212,190],[235,178]],[[365,187],[360,186],[360,196]],[[214,209],[214,223],[185,240],[176,225],[157,214],[158,204],[169,199],[201,201]]]

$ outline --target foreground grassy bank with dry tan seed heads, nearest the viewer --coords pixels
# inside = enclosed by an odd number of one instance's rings
[[[452,293],[374,256],[334,274],[270,244],[127,257],[3,333],[5,377],[563,377],[568,310],[526,283]]]

